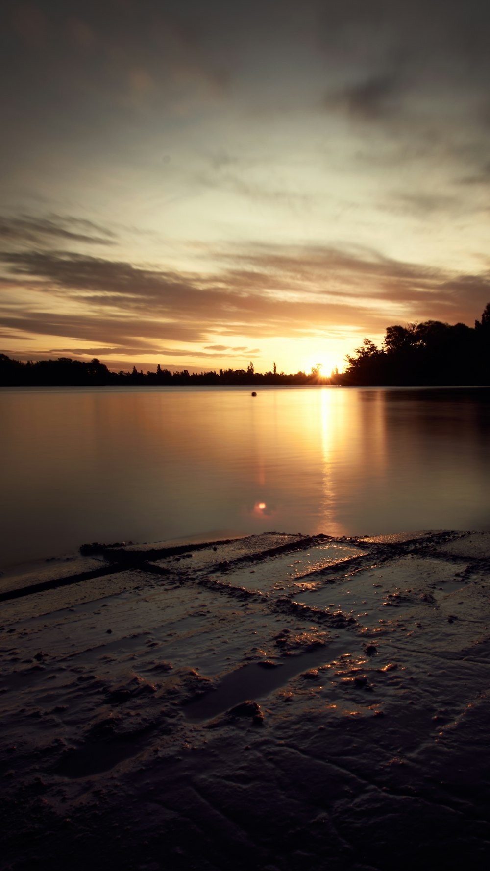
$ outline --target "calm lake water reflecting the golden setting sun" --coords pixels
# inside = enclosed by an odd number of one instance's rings
[[[3,388],[0,569],[86,541],[490,529],[487,388]]]

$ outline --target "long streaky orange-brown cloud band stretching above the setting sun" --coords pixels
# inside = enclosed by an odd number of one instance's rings
[[[121,317],[143,309],[160,317],[178,313],[180,321],[202,318],[207,324],[223,316],[233,320],[233,313],[256,318],[277,309],[280,317],[281,310],[300,301],[344,307],[362,305],[364,297],[396,301],[395,284],[400,298],[420,299],[423,292],[433,297],[453,277],[451,271],[393,260],[364,246],[255,245],[250,251],[221,253],[221,272],[201,274],[150,270],[77,253],[10,252],[1,253],[0,260],[17,281],[34,280],[30,287],[41,293],[119,309]]]

